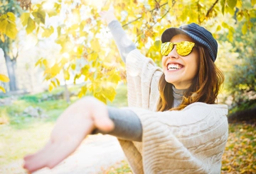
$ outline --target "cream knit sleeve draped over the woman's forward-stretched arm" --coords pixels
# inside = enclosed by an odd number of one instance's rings
[[[228,139],[226,105],[193,103],[181,111],[166,112],[132,110],[142,122],[144,173],[220,173]],[[132,159],[134,151],[126,151]]]

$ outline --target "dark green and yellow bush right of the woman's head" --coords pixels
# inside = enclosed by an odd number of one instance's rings
[[[220,59],[217,64],[225,73],[224,90],[226,96],[231,96],[228,98],[232,101],[231,109],[246,109],[256,104],[256,28],[254,26],[252,30],[242,34],[244,24],[237,25],[241,30],[235,33],[234,42],[226,42],[223,39],[220,41]]]

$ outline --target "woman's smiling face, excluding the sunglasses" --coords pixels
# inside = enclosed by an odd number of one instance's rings
[[[191,37],[178,34],[171,38],[170,42],[190,41]],[[192,79],[198,72],[198,50],[193,50],[187,56],[181,56],[176,52],[176,45],[171,52],[162,58],[165,79],[172,83],[177,89],[186,89],[191,85]]]

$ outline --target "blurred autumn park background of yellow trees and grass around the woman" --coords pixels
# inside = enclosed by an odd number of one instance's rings
[[[225,74],[218,103],[230,134],[222,173],[256,173],[256,1],[2,0],[0,2],[0,173],[26,173],[65,108],[85,95],[127,106],[124,63],[99,12],[112,6],[137,48],[161,65],[160,36],[198,23],[218,40]],[[90,149],[88,151],[88,149]],[[114,137],[94,135],[54,170],[132,173]],[[94,158],[94,160],[92,160]],[[83,161],[84,163],[81,163]]]

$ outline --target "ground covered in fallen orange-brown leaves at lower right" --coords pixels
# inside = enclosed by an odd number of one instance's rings
[[[230,124],[222,173],[256,173],[255,128],[250,124]]]

